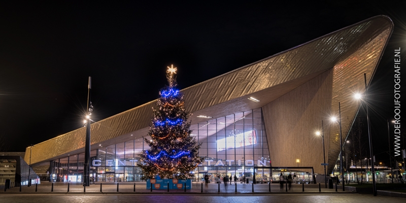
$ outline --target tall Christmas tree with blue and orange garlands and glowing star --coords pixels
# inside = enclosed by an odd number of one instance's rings
[[[154,117],[148,136],[144,138],[151,147],[140,154],[140,167],[145,179],[159,174],[167,179],[190,179],[191,171],[204,160],[198,156],[200,145],[190,137],[190,113],[186,112],[183,94],[176,88],[176,67],[172,65],[166,71],[168,86],[159,91],[156,107],[152,108]]]

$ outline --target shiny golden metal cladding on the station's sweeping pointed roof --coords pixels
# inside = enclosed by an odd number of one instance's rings
[[[341,102],[343,105],[342,118],[349,118],[348,122],[345,121],[347,123],[343,129],[345,137],[351,128],[356,110],[359,108],[359,103],[350,102],[351,91],[355,89],[359,90],[360,93],[364,92],[364,88],[360,85],[360,75],[366,73],[367,83],[370,83],[392,30],[393,23],[385,16],[373,17],[345,27],[308,43],[183,89],[185,107],[194,115],[207,115],[213,118],[260,108],[332,69],[332,94],[331,107],[329,108],[331,112],[326,112],[326,114],[335,113],[338,102]],[[250,96],[260,101],[248,100],[247,98]],[[99,148],[99,145],[109,146],[144,136],[151,122],[151,108],[154,102],[151,101],[92,124],[91,149],[95,150]],[[297,99],[297,102],[300,100]],[[317,120],[324,119],[325,117],[320,117]],[[194,117],[192,124],[204,123],[209,120]],[[135,138],[131,137],[131,134]],[[337,128],[331,126],[330,139],[326,141],[330,149],[328,151],[330,172],[339,154],[337,149],[340,148],[336,146],[336,134]],[[82,153],[84,151],[84,136],[85,130],[80,128],[33,146],[32,163],[41,164],[65,157],[67,154]],[[280,135],[268,134],[268,141],[271,143],[272,140],[269,138],[272,136]],[[303,139],[303,146],[307,146],[307,142],[310,141]],[[281,153],[290,152],[289,150],[300,153],[300,151],[296,151],[299,149],[286,149]],[[317,155],[320,156],[320,154]],[[277,159],[284,159],[284,157],[277,156],[275,161]],[[28,160],[27,156],[25,160]]]

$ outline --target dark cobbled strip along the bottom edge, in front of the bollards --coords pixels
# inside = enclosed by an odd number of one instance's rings
[[[404,202],[371,194],[0,194],[2,202]]]

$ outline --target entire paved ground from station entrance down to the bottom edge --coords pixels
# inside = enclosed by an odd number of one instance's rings
[[[100,183],[102,192],[100,192]],[[14,187],[0,191],[2,202],[383,202],[391,203],[405,202],[404,198],[373,196],[372,194],[360,194],[353,191],[342,191],[338,189],[326,189],[321,184],[292,184],[292,188],[286,192],[286,185],[280,190],[279,184],[241,184],[228,185],[227,190],[224,184],[210,183],[208,187],[201,182],[193,182],[192,189],[170,189],[151,190],[146,189],[146,182],[136,182],[136,192],[134,192],[134,182],[119,182],[117,192],[117,182],[96,182],[89,187],[84,187],[81,183],[70,183],[67,192],[67,183],[43,182],[31,187]],[[203,190],[201,190],[203,186]],[[254,192],[252,192],[254,186]],[[304,186],[304,192],[303,190]],[[203,192],[202,192],[203,191]]]

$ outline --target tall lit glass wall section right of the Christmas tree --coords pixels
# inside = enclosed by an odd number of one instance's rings
[[[191,136],[201,143],[205,161],[194,171],[195,179],[228,176],[252,180],[254,166],[270,166],[269,150],[261,109],[236,113],[190,126]],[[258,179],[269,170],[256,170]],[[266,178],[264,178],[266,179]]]

